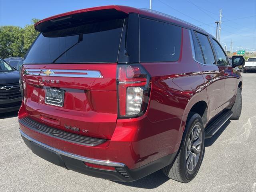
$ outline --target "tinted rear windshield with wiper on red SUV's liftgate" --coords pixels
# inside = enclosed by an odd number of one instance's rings
[[[117,62],[123,24],[112,19],[41,33],[24,63]]]

